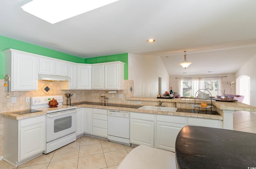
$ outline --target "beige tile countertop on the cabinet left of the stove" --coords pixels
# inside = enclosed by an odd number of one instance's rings
[[[28,109],[28,110],[31,110],[31,109]],[[21,112],[21,111],[25,111],[25,110],[18,110],[18,111],[14,111],[14,112],[0,113],[0,116],[4,117],[4,118],[10,118],[10,119],[13,119],[13,120],[22,120],[22,119],[25,119],[25,118],[32,118],[32,117],[42,116],[42,115],[46,114],[45,111],[39,111],[39,112],[28,113],[28,114],[15,114],[16,112]]]

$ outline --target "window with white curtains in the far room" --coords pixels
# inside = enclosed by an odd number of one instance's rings
[[[218,95],[218,84],[219,81],[217,79],[201,79],[201,81],[197,78],[193,78],[191,80],[182,80],[181,81],[181,96],[183,97],[194,97],[196,92],[199,89],[206,89],[212,94],[212,96]],[[201,84],[200,84],[201,83]],[[208,93],[207,91],[203,91]],[[198,94],[198,93],[197,93]],[[197,95],[196,94],[196,95]]]

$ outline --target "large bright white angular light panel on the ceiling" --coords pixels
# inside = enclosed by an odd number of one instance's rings
[[[42,20],[55,24],[118,0],[24,0],[20,7]]]

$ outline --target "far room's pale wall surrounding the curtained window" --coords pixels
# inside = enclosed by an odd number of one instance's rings
[[[221,77],[221,76],[227,76],[224,78],[224,89],[225,94],[230,94],[230,85],[227,82],[230,81],[236,81],[235,74],[221,74],[221,75],[198,75],[198,76],[170,76],[170,86],[172,86],[172,90],[174,92],[178,91],[178,79],[175,79],[176,77]],[[210,79],[210,78],[207,78]],[[232,85],[232,94],[236,93],[236,83]],[[180,94],[180,93],[179,93]]]

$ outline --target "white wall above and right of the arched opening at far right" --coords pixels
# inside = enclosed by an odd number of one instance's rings
[[[250,77],[250,105],[256,106],[256,55],[252,57],[246,64],[244,64],[236,73],[235,77],[241,75]]]

